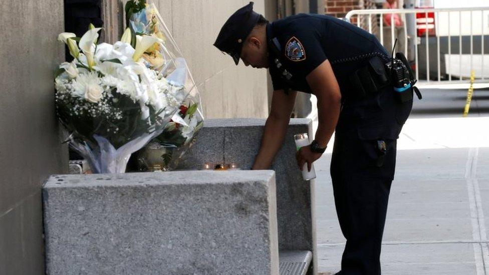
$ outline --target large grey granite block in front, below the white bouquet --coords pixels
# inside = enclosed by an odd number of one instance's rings
[[[51,176],[48,274],[278,274],[273,171]]]

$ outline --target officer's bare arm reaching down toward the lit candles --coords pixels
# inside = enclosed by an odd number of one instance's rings
[[[265,123],[262,145],[252,169],[264,170],[269,169],[272,165],[272,161],[284,141],[296,101],[296,94],[295,91],[290,91],[288,95],[283,90],[274,92],[270,115]]]

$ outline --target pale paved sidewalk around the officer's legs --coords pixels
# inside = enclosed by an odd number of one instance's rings
[[[489,117],[459,114],[414,115],[403,129],[382,274],[489,274]],[[329,175],[331,149],[315,163],[321,272],[340,269],[345,241]]]

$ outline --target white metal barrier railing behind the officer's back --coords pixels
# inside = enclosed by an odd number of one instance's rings
[[[423,14],[425,20],[422,20],[422,18],[416,19],[416,15]],[[434,19],[429,18],[428,14],[434,14]],[[384,26],[385,15],[391,15],[390,26],[387,24],[387,26]],[[356,25],[365,29],[369,33],[373,33],[374,29],[376,29],[375,32],[379,30],[378,34],[376,35],[379,38],[380,43],[383,46],[386,46],[384,44],[384,28],[390,28],[391,45],[395,39],[395,30],[398,30],[394,22],[394,15],[399,15],[399,18],[402,20],[402,26],[397,27],[401,30],[400,33],[403,33],[402,36],[404,38],[404,49],[400,49],[400,51],[404,52],[406,57],[408,57],[408,60],[415,63],[415,74],[417,79],[420,77],[419,55],[421,54],[421,51],[418,52],[418,48],[423,45],[421,43],[421,38],[424,37],[425,49],[422,50],[425,51],[424,58],[426,60],[421,61],[425,63],[422,65],[426,66],[426,70],[421,73],[424,73],[422,79],[424,79],[427,83],[452,83],[468,81],[472,71],[475,71],[475,75],[478,80],[477,82],[484,82],[484,80],[487,82],[487,79],[489,79],[489,53],[486,53],[487,50],[484,51],[484,35],[489,34],[489,7],[460,9],[353,10],[346,15],[345,19],[349,22],[356,20]],[[455,17],[456,15],[458,15],[458,17]],[[409,16],[411,17],[410,20],[406,20],[406,18]],[[480,23],[477,24],[478,26],[473,24],[474,16],[476,20],[480,19]],[[355,24],[355,22],[353,22],[353,24]],[[458,29],[454,29],[454,25],[458,25]],[[429,35],[429,30],[433,28],[435,31],[435,38],[432,35]],[[422,37],[418,37],[418,29],[425,29]],[[408,31],[410,31],[411,34],[408,34]],[[457,45],[452,44],[457,42],[457,36],[458,47],[455,47]],[[477,54],[480,52],[480,57],[478,55],[474,55],[474,36],[477,37],[477,39],[479,39],[478,36],[480,36],[480,51],[477,45]],[[443,40],[446,40],[446,42],[443,41],[443,43],[441,43],[443,48],[447,46],[447,49],[445,50],[440,49],[440,37]],[[454,43],[452,43],[453,37],[455,38],[453,41]],[[462,45],[462,42],[466,42],[467,39],[462,39],[462,37],[468,37],[469,39],[469,51],[465,51],[469,52],[468,56],[463,54],[462,51],[462,49],[467,48]],[[436,72],[436,75],[430,75],[430,44],[432,44],[430,42],[433,42],[433,40],[436,40],[436,46],[431,46],[436,47],[436,66],[432,64],[434,68],[431,71],[432,73]],[[487,42],[489,41],[487,41],[486,38],[485,43],[487,44]],[[487,47],[487,45],[485,45],[485,47]],[[412,48],[414,48],[414,50],[410,51],[409,49]],[[452,53],[452,48],[458,51],[453,51]],[[392,48],[389,49],[388,47],[386,47],[386,49],[389,52],[392,50]],[[412,52],[414,54],[412,54]],[[484,54],[486,56],[484,56]],[[477,66],[474,64],[474,56],[477,57]],[[453,67],[455,67],[457,57],[458,70],[454,70]],[[486,59],[485,63],[484,57]],[[442,59],[444,60],[444,63],[441,63]],[[470,62],[469,67],[466,64],[468,60]],[[480,64],[478,64],[479,62]],[[464,66],[466,68],[462,69]]]

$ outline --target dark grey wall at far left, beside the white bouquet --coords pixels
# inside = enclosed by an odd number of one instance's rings
[[[63,1],[0,1],[0,11],[0,274],[41,274],[41,184],[68,166],[53,85]]]

